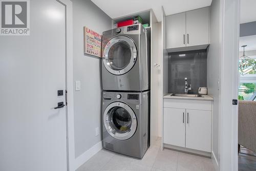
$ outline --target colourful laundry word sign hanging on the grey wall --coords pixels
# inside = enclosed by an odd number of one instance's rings
[[[101,34],[83,27],[84,53],[101,57],[101,37]]]

